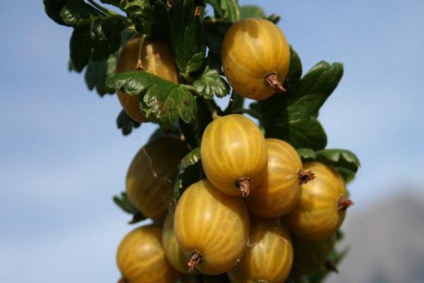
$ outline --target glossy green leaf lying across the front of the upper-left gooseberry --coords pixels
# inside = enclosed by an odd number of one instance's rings
[[[129,95],[141,95],[141,110],[146,117],[157,119],[167,127],[177,122],[178,117],[189,123],[196,115],[196,100],[187,88],[146,71],[116,74],[107,81],[107,86],[122,89]]]

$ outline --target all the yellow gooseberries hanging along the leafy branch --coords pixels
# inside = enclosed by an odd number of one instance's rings
[[[117,71],[130,71],[129,62],[132,69],[177,81],[161,42],[132,37]],[[222,63],[237,93],[263,100],[284,90],[290,51],[276,25],[246,19],[225,35]],[[138,97],[122,91],[118,96],[130,117],[146,121]],[[302,163],[293,146],[265,139],[239,114],[215,117],[200,151],[204,178],[189,185],[176,204],[172,183],[189,153],[183,138],[153,139],[131,162],[128,199],[154,222],[119,244],[122,282],[196,282],[200,274],[226,273],[233,283],[278,283],[290,272],[308,275],[324,265],[352,204],[337,171],[324,163]]]

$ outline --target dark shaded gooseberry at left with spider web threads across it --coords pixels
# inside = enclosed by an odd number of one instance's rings
[[[126,173],[126,194],[144,216],[165,219],[172,200],[172,182],[188,152],[185,141],[158,137],[134,156]]]

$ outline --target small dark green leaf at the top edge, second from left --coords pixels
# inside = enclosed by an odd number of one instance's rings
[[[100,13],[83,0],[71,0],[61,9],[60,16],[66,25],[75,27],[90,24]]]

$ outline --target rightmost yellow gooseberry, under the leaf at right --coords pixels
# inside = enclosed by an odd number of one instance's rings
[[[341,226],[346,211],[338,211],[338,200],[348,197],[348,192],[341,175],[330,166],[308,162],[303,168],[312,171],[315,178],[302,185],[298,204],[283,216],[283,221],[299,238],[322,241]]]

